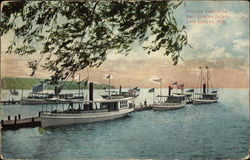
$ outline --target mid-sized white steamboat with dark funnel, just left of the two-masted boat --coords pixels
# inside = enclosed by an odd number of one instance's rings
[[[176,110],[184,108],[187,99],[185,95],[171,95],[172,87],[169,86],[169,95],[168,96],[161,96],[158,95],[157,97],[160,98],[160,101],[153,104],[154,111],[168,111],[168,110]]]

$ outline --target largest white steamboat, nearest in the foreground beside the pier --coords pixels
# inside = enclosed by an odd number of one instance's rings
[[[134,98],[101,100],[61,100],[68,102],[67,109],[41,112],[42,127],[84,124],[113,120],[134,111]]]

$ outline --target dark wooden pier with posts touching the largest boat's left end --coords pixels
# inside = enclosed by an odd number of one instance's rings
[[[41,126],[41,118],[32,117],[21,119],[21,115],[19,114],[18,117],[15,116],[14,119],[10,119],[10,116],[8,116],[8,120],[1,120],[1,126],[2,130],[17,130],[19,128],[38,127]]]

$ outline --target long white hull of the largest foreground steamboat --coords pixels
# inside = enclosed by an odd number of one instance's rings
[[[48,113],[41,115],[41,123],[42,127],[92,123],[122,118],[133,111],[134,108],[126,108],[112,112]]]

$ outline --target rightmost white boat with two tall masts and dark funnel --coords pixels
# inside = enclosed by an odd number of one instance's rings
[[[202,67],[199,67],[201,70],[197,88],[200,86],[200,92],[194,93],[193,103],[194,104],[208,104],[215,103],[218,101],[218,92],[213,90],[211,75],[209,73],[208,66],[205,67],[207,70],[206,76],[203,75]],[[209,88],[211,86],[211,88]]]

